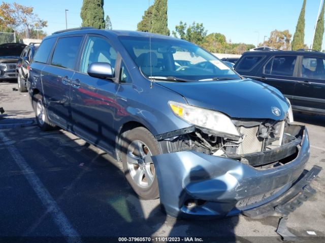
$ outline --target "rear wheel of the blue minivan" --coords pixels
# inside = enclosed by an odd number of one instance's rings
[[[37,124],[43,131],[53,130],[53,128],[55,128],[55,125],[50,123],[47,118],[47,112],[43,102],[43,97],[40,94],[36,94],[34,95],[33,100],[35,102],[34,108]]]

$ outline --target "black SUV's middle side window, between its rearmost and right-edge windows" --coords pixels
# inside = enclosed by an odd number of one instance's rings
[[[297,56],[275,56],[264,68],[265,74],[293,76]]]

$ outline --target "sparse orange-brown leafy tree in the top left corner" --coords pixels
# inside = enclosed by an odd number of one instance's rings
[[[33,10],[32,7],[3,2],[0,6],[0,26],[8,26],[15,31],[26,31],[28,38],[32,28],[41,29],[47,26],[47,21],[40,19]]]

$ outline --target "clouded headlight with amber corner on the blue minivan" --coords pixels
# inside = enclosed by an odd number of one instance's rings
[[[185,105],[174,101],[170,101],[169,106],[172,108],[174,114],[190,124],[225,135],[230,134],[240,137],[231,119],[221,112]]]

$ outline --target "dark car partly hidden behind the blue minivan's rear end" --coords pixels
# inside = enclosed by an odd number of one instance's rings
[[[21,52],[17,61],[17,81],[20,92],[27,92],[26,79],[28,77],[30,60],[34,57],[39,46],[40,43],[29,43]]]

